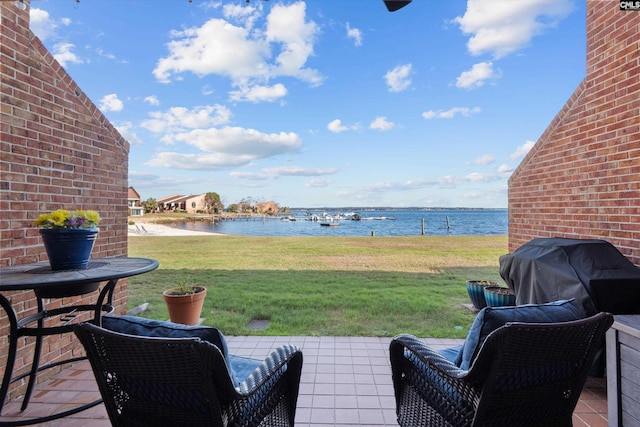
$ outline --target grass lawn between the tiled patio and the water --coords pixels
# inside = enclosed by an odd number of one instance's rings
[[[133,308],[167,319],[162,291],[207,287],[205,324],[227,335],[464,338],[474,314],[465,281],[494,280],[506,236],[129,238],[129,256],[160,267],[129,279]],[[264,331],[246,328],[269,320]]]

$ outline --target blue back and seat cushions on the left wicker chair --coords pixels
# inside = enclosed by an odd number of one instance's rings
[[[127,335],[160,338],[200,338],[208,341],[218,347],[224,356],[234,387],[244,381],[260,364],[259,360],[230,356],[224,335],[218,329],[210,326],[186,326],[136,316],[105,316],[102,318],[102,327]]]

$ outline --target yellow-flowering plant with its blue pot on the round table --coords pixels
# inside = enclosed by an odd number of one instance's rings
[[[52,270],[87,268],[98,235],[100,215],[92,210],[58,209],[40,215],[33,225],[40,227]]]

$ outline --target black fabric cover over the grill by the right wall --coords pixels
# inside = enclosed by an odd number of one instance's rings
[[[576,298],[587,316],[640,313],[640,268],[604,240],[533,239],[500,257],[500,275],[518,305]]]

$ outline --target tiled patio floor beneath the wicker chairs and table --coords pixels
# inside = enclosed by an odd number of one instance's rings
[[[390,338],[372,337],[228,337],[229,352],[263,359],[272,348],[290,343],[302,349],[304,363],[296,412],[297,426],[397,426],[389,365]],[[462,340],[426,339],[434,348]],[[59,412],[74,402],[99,397],[88,362],[65,369],[40,384],[29,407],[20,402],[3,408],[2,422]],[[590,378],[573,415],[575,427],[607,426],[606,381]],[[45,426],[108,426],[102,404]]]

